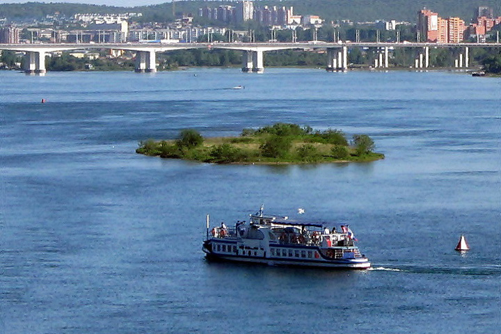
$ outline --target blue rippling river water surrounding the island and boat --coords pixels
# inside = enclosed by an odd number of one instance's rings
[[[0,84],[2,333],[500,331],[500,79],[192,69],[3,71]],[[134,152],[180,129],[275,122],[369,134],[385,159],[218,166]],[[261,204],[349,223],[373,268],[207,262],[205,215],[232,224]]]

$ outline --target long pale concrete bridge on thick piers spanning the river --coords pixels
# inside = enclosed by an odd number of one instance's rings
[[[45,73],[45,56],[55,51],[82,49],[120,49],[136,52],[136,72],[157,72],[156,53],[182,49],[230,49],[242,51],[242,71],[264,72],[263,53],[285,49],[326,49],[328,71],[348,69],[348,50],[350,48],[377,49],[374,67],[388,68],[388,50],[398,47],[417,50],[415,68],[429,67],[430,48],[450,48],[454,50],[454,67],[470,66],[470,47],[498,48],[495,43],[427,43],[427,42],[212,42],[212,43],[40,43],[40,44],[0,44],[1,50],[22,51],[26,53],[24,70],[26,73]],[[452,65],[452,64],[451,64]]]

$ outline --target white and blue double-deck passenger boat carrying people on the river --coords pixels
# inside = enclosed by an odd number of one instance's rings
[[[271,266],[367,269],[370,262],[355,246],[348,225],[329,230],[287,216],[264,214],[261,208],[250,221],[224,223],[213,228],[207,215],[207,239],[202,250],[208,260],[253,262]]]

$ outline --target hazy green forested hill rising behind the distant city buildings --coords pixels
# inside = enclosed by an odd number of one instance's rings
[[[84,1],[84,0],[82,0]],[[198,8],[232,4],[228,1],[176,1],[175,12],[198,15]],[[234,3],[233,3],[234,4]],[[426,7],[441,17],[458,16],[469,23],[475,8],[489,6],[496,16],[501,16],[500,0],[283,0],[255,1],[269,6],[294,6],[294,13],[312,14],[332,19],[373,21],[374,19],[397,19],[415,22],[417,11]],[[172,3],[134,8],[95,6],[74,3],[6,3],[0,4],[0,17],[8,19],[41,19],[59,12],[67,17],[74,13],[143,13],[145,21],[169,21],[173,19]]]

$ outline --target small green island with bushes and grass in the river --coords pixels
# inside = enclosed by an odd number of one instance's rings
[[[141,141],[137,153],[153,157],[185,159],[216,164],[311,164],[375,161],[374,141],[356,134],[350,141],[341,130],[314,131],[289,123],[244,129],[237,137],[203,138],[184,129],[175,140]]]

